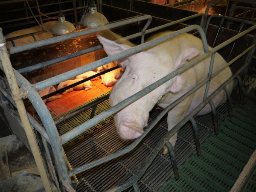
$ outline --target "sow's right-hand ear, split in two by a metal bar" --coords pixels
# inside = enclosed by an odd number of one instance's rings
[[[184,49],[180,56],[177,58],[177,61],[174,64],[174,69],[178,69],[179,67],[182,67],[187,60],[191,60],[195,56],[199,54],[199,50],[195,48],[187,48]],[[172,85],[167,89],[167,91],[170,91],[172,93],[177,93],[182,88],[182,79],[180,76],[176,76],[173,78]]]

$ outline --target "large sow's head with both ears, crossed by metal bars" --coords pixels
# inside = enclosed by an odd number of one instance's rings
[[[105,52],[113,55],[131,48],[125,44],[117,44],[101,36],[97,36],[103,44]],[[176,58],[173,62],[172,57],[159,56],[159,52],[155,52],[156,47],[147,51],[139,52],[120,61],[122,67],[125,67],[120,80],[113,87],[110,95],[110,105],[116,105],[127,99],[129,96],[143,90],[148,85],[163,78],[185,63],[186,60],[198,55],[197,49],[188,49]],[[154,105],[167,93],[176,93],[182,88],[180,76],[169,80],[165,84],[157,87],[147,95],[138,99],[136,102],[128,105],[126,108],[114,115],[116,129],[119,136],[123,139],[135,139],[143,134],[143,128],[147,126],[149,112]]]

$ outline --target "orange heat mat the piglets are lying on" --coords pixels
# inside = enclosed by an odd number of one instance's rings
[[[60,99],[47,102],[46,105],[55,116],[60,116],[112,89],[113,86],[106,87],[104,84],[101,84],[101,79],[98,79],[92,81],[92,88],[90,90],[74,90],[63,95]]]

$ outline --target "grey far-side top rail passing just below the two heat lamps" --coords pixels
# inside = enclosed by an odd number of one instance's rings
[[[34,48],[41,47],[41,46],[46,46],[46,45],[49,45],[49,44],[54,44],[54,43],[57,43],[57,42],[60,42],[60,41],[70,39],[70,38],[76,38],[76,37],[79,37],[79,36],[82,36],[82,35],[87,35],[87,34],[91,34],[91,33],[94,33],[94,32],[99,32],[99,31],[106,30],[106,29],[112,29],[112,28],[115,28],[115,27],[118,27],[118,26],[123,26],[123,25],[127,25],[127,24],[130,24],[130,23],[134,23],[134,22],[137,22],[137,21],[146,20],[146,19],[150,19],[150,18],[151,18],[150,15],[144,15],[144,16],[141,16],[141,17],[135,17],[135,18],[128,19],[128,20],[122,20],[122,21],[117,22],[117,23],[110,23],[110,24],[107,24],[105,26],[93,27],[93,28],[90,28],[90,29],[87,29],[87,30],[73,32],[73,33],[70,33],[70,34],[67,34],[67,35],[61,35],[61,36],[57,36],[57,37],[50,38],[50,39],[44,39],[44,40],[41,40],[41,41],[36,41],[36,42],[30,43],[30,44],[25,44],[25,45],[22,45],[22,46],[11,47],[9,49],[9,54],[12,55],[12,54],[17,53],[17,52],[26,51],[26,50],[29,50],[29,49],[34,49]]]

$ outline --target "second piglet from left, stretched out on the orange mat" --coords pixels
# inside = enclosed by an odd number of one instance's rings
[[[83,79],[74,79],[74,80],[67,80],[67,81],[61,82],[60,84],[58,84],[57,89],[59,90],[61,88],[67,87],[68,85],[74,84],[74,83],[76,83],[78,81],[81,81],[81,80],[83,80]],[[85,81],[84,83],[81,83],[79,85],[76,85],[75,87],[71,87],[70,89],[65,90],[62,93],[62,95],[66,94],[66,93],[69,93],[73,90],[79,90],[79,89],[83,89],[83,88],[84,88],[84,90],[89,90],[89,89],[92,88],[91,84],[92,84],[91,81]]]

